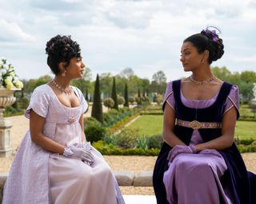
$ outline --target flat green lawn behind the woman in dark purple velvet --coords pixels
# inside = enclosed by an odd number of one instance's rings
[[[139,135],[162,134],[162,119],[163,116],[143,115],[130,124],[129,128],[138,129]],[[238,135],[240,139],[256,140],[256,122],[238,121],[234,135]]]

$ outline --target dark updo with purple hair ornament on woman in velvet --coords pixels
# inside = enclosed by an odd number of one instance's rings
[[[224,54],[222,39],[218,37],[215,30],[203,29],[201,33],[187,37],[183,43],[186,41],[190,41],[198,49],[198,53],[203,53],[205,50],[209,51],[209,65]]]

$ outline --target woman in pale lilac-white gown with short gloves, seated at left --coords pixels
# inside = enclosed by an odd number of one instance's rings
[[[124,203],[110,167],[86,142],[88,104],[70,86],[85,68],[78,43],[58,35],[47,42],[46,53],[55,77],[30,98],[30,130],[18,147],[2,203]]]

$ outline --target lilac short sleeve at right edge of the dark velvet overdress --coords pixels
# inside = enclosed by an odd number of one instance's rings
[[[235,107],[239,112],[239,89],[236,85],[232,86],[230,94],[226,98],[226,102],[224,104],[224,114],[232,107]]]

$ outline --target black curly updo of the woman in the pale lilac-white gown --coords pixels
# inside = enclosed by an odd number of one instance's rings
[[[52,37],[46,43],[47,65],[55,75],[60,73],[58,65],[65,62],[66,66],[70,65],[72,57],[81,57],[81,49],[76,41],[72,41],[70,36],[57,35]]]

